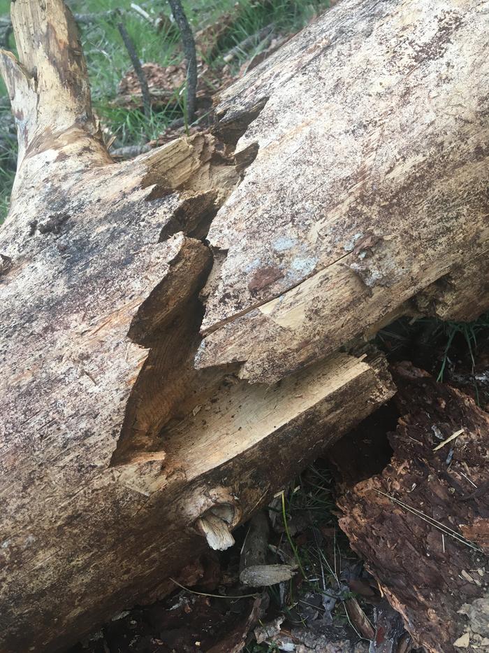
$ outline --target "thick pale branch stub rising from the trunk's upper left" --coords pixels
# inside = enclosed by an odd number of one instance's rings
[[[71,11],[63,0],[16,0],[11,3],[11,20],[19,61],[10,52],[2,51],[0,71],[17,124],[19,167],[34,141],[39,152],[43,149],[41,143],[52,144],[53,139],[70,129],[97,140],[92,157],[102,155],[106,160]],[[71,139],[68,149],[73,155],[75,150],[79,154],[80,147],[74,143],[75,139]]]

